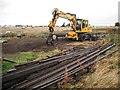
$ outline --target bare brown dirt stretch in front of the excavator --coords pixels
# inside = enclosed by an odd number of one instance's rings
[[[81,45],[88,46],[96,44],[97,42],[92,41],[71,41],[65,38],[59,38],[57,45],[50,46],[46,44],[46,38],[22,38],[9,40],[7,43],[3,43],[2,52],[3,54],[14,54],[17,52],[27,52],[27,51],[50,51],[54,49],[65,50],[71,47]]]

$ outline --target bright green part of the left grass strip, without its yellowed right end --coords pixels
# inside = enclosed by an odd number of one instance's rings
[[[7,54],[5,56],[6,56],[5,59],[14,61],[14,62],[16,62],[16,64],[29,62],[29,61],[32,61],[33,59],[37,58],[37,54],[33,53],[33,52],[21,52],[21,53],[17,53],[17,54],[14,54],[14,55]],[[14,66],[16,64],[3,61],[2,62],[3,73],[6,72],[9,69],[14,68]]]

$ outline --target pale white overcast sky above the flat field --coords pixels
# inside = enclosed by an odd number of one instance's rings
[[[0,0],[0,25],[48,25],[52,10],[88,19],[91,25],[114,25],[120,0]],[[57,25],[68,20],[58,19]]]

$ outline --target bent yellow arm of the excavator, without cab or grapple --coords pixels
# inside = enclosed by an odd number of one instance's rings
[[[57,8],[55,8],[52,12],[52,15],[53,15],[52,21],[50,21],[50,23],[48,25],[50,32],[54,31],[55,24],[56,24],[57,19],[59,17],[64,18],[64,19],[68,19],[69,21],[71,21],[73,31],[76,31],[76,17],[75,17],[75,14],[64,13],[62,11],[59,11]]]

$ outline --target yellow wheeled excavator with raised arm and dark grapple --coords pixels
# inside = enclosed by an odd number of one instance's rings
[[[48,44],[53,44],[53,41],[57,40],[57,36],[53,34],[54,27],[59,17],[68,19],[72,22],[72,31],[67,32],[66,39],[74,39],[79,41],[97,39],[95,35],[92,34],[92,27],[89,26],[89,22],[86,19],[77,19],[76,14],[64,13],[58,8],[55,8],[52,12],[53,18],[50,21],[48,27],[50,35],[47,39]]]

